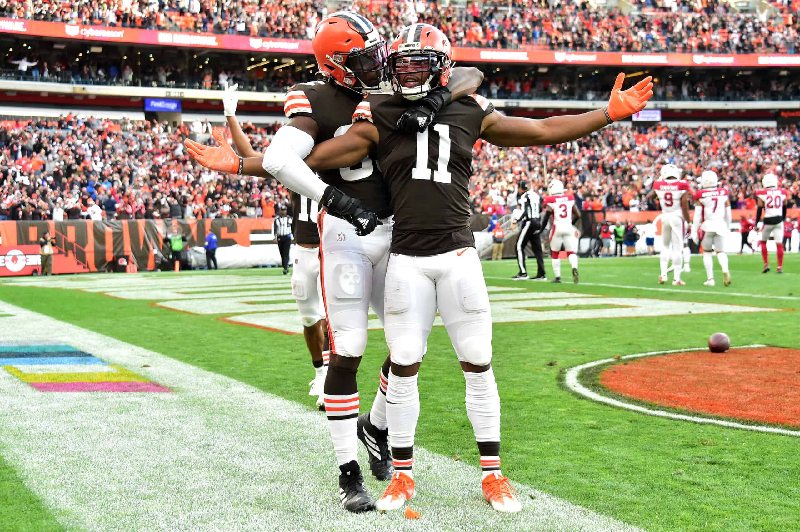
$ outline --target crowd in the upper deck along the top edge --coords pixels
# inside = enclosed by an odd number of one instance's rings
[[[780,12],[742,14],[728,2],[642,0],[640,14],[588,2],[450,2],[353,0],[344,9],[370,18],[386,38],[413,22],[441,27],[457,46],[552,50],[787,52],[798,48],[798,1]],[[329,13],[324,2],[282,0],[0,0],[0,17],[34,18],[150,30],[310,38]]]

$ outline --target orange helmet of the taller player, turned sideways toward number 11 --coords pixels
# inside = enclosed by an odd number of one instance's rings
[[[319,71],[338,85],[363,94],[381,92],[386,41],[358,13],[337,11],[323,18],[311,39]]]

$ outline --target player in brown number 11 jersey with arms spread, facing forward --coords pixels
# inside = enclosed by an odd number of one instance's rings
[[[386,272],[386,341],[391,364],[386,416],[395,473],[378,510],[399,508],[414,496],[414,431],[419,415],[417,377],[438,311],[466,379],[466,411],[483,470],[482,490],[495,510],[521,509],[500,470],[500,399],[491,367],[489,296],[470,229],[469,181],[478,138],[499,146],[573,141],[644,109],[651,78],[622,91],[619,74],[609,104],[589,113],[544,120],[506,117],[475,95],[441,109],[429,128],[398,132],[398,117],[418,98],[450,81],[450,43],[426,24],[404,28],[391,47],[388,72],[394,95],[370,94],[358,104],[347,133],[316,145],[311,168],[339,168],[376,153],[394,212]]]

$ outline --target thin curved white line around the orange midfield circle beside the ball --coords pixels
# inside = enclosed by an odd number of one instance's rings
[[[750,345],[738,345],[735,347],[731,347],[731,349],[745,349],[747,347],[766,347],[766,346],[763,345],[762,343],[753,343]],[[707,348],[693,347],[691,349],[672,349],[670,351],[650,351],[648,353],[638,353],[636,355],[625,355],[620,357],[620,359],[621,360],[638,359],[642,356],[670,355],[670,353],[682,353],[684,351],[707,351]],[[614,362],[614,359],[595,360],[594,362],[585,363],[580,366],[570,367],[569,371],[566,372],[566,379],[565,379],[566,386],[575,393],[583,395],[584,397],[588,397],[589,399],[597,401],[598,403],[606,403],[610,404],[613,407],[626,408],[627,410],[641,412],[642,414],[655,415],[661,418],[679,419],[681,421],[691,421],[693,423],[706,423],[710,425],[719,425],[720,427],[738,428],[738,429],[744,429],[746,431],[769,432],[771,434],[800,437],[800,431],[789,431],[778,427],[762,427],[759,425],[746,425],[745,423],[734,423],[733,421],[724,421],[722,419],[710,419],[710,418],[702,418],[695,415],[674,414],[673,412],[666,412],[662,410],[653,410],[651,408],[640,407],[639,405],[636,404],[625,403],[623,401],[619,401],[618,399],[612,399],[610,397],[606,397],[605,395],[600,395],[595,391],[591,391],[589,388],[583,386],[581,383],[578,382],[578,376],[581,374],[581,371],[589,367],[600,366],[602,364],[610,362]]]

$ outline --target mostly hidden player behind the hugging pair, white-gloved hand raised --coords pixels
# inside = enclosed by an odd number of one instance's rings
[[[228,121],[230,136],[242,157],[258,157],[250,144],[250,139],[236,119],[238,84],[225,83],[222,106]],[[266,190],[265,190],[266,193]],[[292,296],[297,301],[306,347],[311,354],[314,366],[314,379],[309,383],[308,395],[317,396],[317,407],[325,410],[322,387],[328,371],[330,348],[328,328],[325,321],[325,308],[322,307],[322,287],[319,282],[319,231],[317,214],[319,204],[305,196],[290,192],[292,207],[292,234],[294,235],[294,267],[292,268]]]

